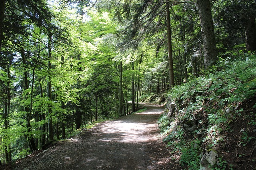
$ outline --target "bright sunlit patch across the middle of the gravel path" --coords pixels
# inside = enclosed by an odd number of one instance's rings
[[[129,119],[120,119],[112,121],[109,124],[102,124],[102,138],[98,142],[118,142],[118,143],[145,143],[152,136],[150,131],[156,127],[157,117],[162,114],[162,109],[148,109],[135,115],[130,115]],[[136,117],[136,118],[133,118]],[[155,118],[150,121],[150,118]]]

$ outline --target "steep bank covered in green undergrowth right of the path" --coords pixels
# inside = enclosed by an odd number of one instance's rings
[[[168,93],[158,123],[184,169],[256,167],[256,56],[225,56],[204,76]]]

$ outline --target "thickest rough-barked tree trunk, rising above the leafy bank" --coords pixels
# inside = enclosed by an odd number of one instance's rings
[[[218,59],[210,0],[197,0],[197,7],[204,46],[204,66],[207,69]]]

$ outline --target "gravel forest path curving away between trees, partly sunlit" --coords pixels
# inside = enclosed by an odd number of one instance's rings
[[[77,137],[17,163],[16,170],[158,170],[180,169],[160,137],[157,120],[164,107],[105,121]]]

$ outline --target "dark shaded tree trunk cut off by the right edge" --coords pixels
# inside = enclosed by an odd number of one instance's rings
[[[245,42],[247,51],[256,51],[256,24],[254,16],[250,16],[245,24]]]

